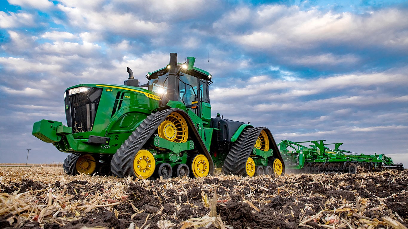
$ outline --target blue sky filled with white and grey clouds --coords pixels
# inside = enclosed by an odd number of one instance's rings
[[[408,2],[402,0],[2,0],[0,163],[62,162],[31,132],[66,123],[64,90],[141,84],[196,58],[212,117],[277,142],[326,140],[408,167]]]

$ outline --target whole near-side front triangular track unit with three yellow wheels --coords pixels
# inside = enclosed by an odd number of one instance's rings
[[[211,155],[188,114],[171,108],[150,114],[111,160],[114,176],[203,177],[214,170]]]

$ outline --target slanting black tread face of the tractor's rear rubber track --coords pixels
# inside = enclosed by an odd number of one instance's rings
[[[224,161],[224,173],[246,176],[246,160],[251,155],[255,142],[264,127],[247,128],[234,142]]]

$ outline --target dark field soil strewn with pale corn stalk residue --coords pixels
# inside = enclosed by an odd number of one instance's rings
[[[408,227],[408,171],[135,180],[0,167],[0,228]]]

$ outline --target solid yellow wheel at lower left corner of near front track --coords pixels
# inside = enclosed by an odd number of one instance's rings
[[[138,178],[149,178],[153,175],[156,162],[149,150],[139,150],[133,159],[133,172]]]

